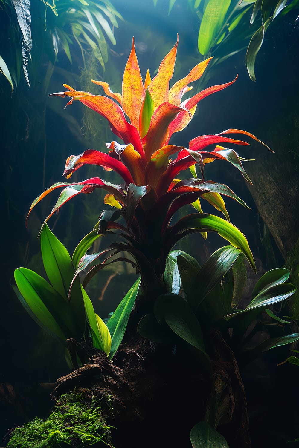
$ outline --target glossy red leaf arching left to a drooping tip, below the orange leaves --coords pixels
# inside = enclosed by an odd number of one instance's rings
[[[63,173],[67,178],[71,177],[74,171],[80,168],[82,165],[100,165],[103,168],[110,168],[117,172],[126,185],[134,182],[128,168],[119,160],[114,159],[109,154],[104,152],[95,151],[95,149],[87,149],[82,154],[70,155],[65,163],[65,171]]]

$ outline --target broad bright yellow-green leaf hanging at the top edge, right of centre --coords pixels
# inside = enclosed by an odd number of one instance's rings
[[[225,23],[225,16],[231,0],[210,0],[204,11],[198,35],[198,49],[203,56],[215,43],[217,33]]]

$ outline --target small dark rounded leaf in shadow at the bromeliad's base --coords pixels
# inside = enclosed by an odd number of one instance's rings
[[[162,327],[157,322],[153,313],[143,316],[138,323],[137,332],[140,336],[159,344],[170,343],[173,335],[168,327]]]

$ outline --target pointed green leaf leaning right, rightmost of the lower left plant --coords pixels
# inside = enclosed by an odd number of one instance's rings
[[[113,358],[119,345],[121,344],[122,338],[126,331],[130,313],[138,294],[139,285],[140,278],[135,281],[132,288],[130,288],[130,290],[126,293],[126,296],[122,299],[121,303],[117,306],[117,309],[114,311],[107,322],[107,327],[112,338],[109,359]]]

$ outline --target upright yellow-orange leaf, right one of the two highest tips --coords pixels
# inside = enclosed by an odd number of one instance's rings
[[[169,98],[169,81],[173,77],[173,70],[175,59],[177,56],[177,43],[170,50],[170,52],[162,60],[158,73],[149,86],[149,92],[154,100],[155,109],[160,106],[161,103],[165,103]]]

